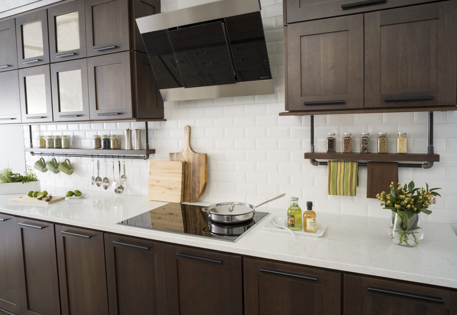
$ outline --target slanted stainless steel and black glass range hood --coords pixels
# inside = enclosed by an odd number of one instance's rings
[[[136,22],[163,100],[274,94],[259,0],[218,0]]]

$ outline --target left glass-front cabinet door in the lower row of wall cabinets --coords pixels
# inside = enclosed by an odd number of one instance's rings
[[[23,122],[53,121],[49,65],[19,69]]]

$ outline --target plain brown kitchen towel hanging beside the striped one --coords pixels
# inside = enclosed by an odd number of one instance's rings
[[[368,162],[367,168],[367,198],[376,198],[376,194],[389,189],[390,183],[399,181],[397,162]]]

